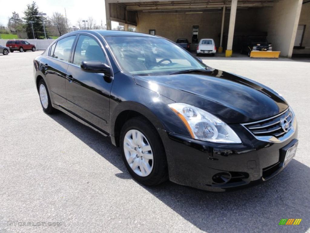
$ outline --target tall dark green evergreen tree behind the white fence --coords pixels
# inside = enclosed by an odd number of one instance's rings
[[[37,39],[44,38],[44,30],[42,24],[42,17],[38,16],[41,12],[39,12],[38,6],[36,2],[32,2],[27,5],[26,10],[24,11],[24,21],[26,23],[26,31],[29,38],[33,38],[31,23],[29,21],[34,21],[33,23],[33,31],[34,36]]]

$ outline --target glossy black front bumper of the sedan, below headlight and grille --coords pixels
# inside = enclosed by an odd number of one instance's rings
[[[298,141],[297,126],[294,134],[281,143],[263,142],[246,131],[243,133],[242,144],[215,144],[162,133],[162,137],[166,135],[163,143],[170,180],[209,191],[225,191],[254,181],[266,181],[284,169],[282,148]],[[219,173],[229,174],[230,180],[216,183],[214,180]]]

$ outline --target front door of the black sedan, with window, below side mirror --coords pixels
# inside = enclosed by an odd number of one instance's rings
[[[68,109],[108,133],[109,101],[113,78],[83,71],[82,61],[100,61],[109,65],[101,42],[89,34],[80,34],[75,46],[73,62],[67,70]]]

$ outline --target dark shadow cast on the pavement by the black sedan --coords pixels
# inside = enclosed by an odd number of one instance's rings
[[[122,171],[115,176],[131,179],[121,156],[103,153],[107,149],[120,153],[109,138],[64,113],[49,116]],[[306,232],[310,227],[309,180],[310,168],[293,159],[270,181],[231,192],[212,193],[170,181],[144,188],[202,231]],[[299,226],[279,226],[282,218],[301,218],[302,221]]]

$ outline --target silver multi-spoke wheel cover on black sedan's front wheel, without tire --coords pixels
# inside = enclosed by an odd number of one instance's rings
[[[153,152],[144,134],[139,130],[129,130],[123,146],[131,169],[139,176],[148,176],[153,170]]]

